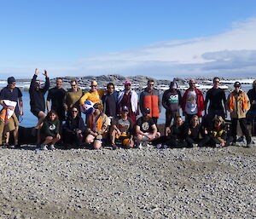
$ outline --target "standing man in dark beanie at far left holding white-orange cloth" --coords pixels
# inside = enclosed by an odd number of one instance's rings
[[[3,109],[15,110],[15,113],[11,118],[9,118],[8,124],[6,124],[3,119],[0,119],[0,145],[3,144],[3,132],[7,135],[8,141],[9,132],[13,131],[15,147],[18,147],[19,117],[23,116],[22,93],[20,89],[16,87],[16,81],[14,77],[9,77],[7,79],[7,83],[8,85],[0,91],[0,104],[3,106]],[[6,105],[4,100],[14,101],[17,104],[14,108]],[[9,142],[6,143],[8,144]]]

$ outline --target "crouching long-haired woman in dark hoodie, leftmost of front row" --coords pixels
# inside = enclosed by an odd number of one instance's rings
[[[50,143],[49,149],[55,150],[55,143],[61,139],[59,134],[60,120],[55,111],[51,110],[46,118],[44,118],[44,124],[41,128],[41,138],[43,144],[41,145],[42,150],[48,150],[47,145]]]

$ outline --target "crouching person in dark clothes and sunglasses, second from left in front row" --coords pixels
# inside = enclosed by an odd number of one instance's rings
[[[68,145],[81,147],[84,140],[84,120],[79,116],[78,107],[71,107],[66,123],[63,125],[63,141]]]

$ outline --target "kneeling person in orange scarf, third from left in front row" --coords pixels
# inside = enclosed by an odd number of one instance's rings
[[[103,113],[102,103],[97,102],[94,106],[94,112],[87,121],[86,144],[93,144],[94,149],[102,147],[103,135],[108,129],[108,117]]]

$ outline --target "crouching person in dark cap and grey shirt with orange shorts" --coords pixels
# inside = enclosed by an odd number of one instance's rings
[[[131,148],[134,146],[133,141],[133,122],[128,117],[128,107],[123,106],[121,108],[121,115],[113,118],[113,124],[111,127],[111,143],[113,150],[117,148],[116,141],[125,148]]]

